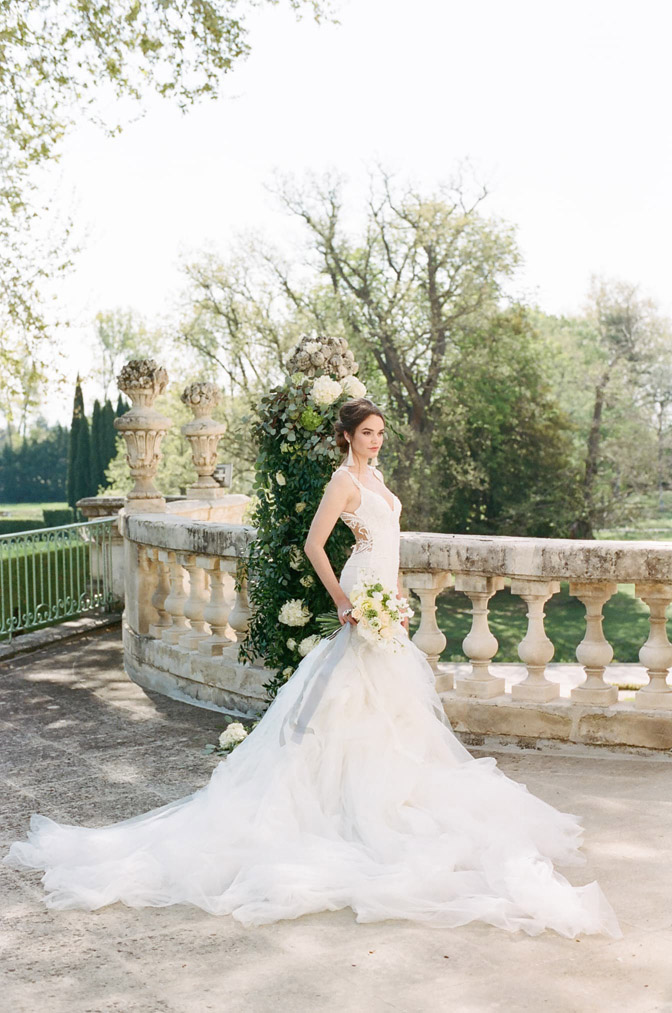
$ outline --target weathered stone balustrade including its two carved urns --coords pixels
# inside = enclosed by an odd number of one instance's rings
[[[177,699],[258,715],[268,705],[264,684],[271,673],[263,658],[238,661],[249,620],[240,564],[255,537],[242,524],[248,498],[223,495],[213,479],[224,427],[210,417],[218,393],[209,383],[193,384],[182,394],[195,414],[183,433],[198,479],[184,499],[166,502],[158,492],[159,444],[169,420],[152,402],[166,382],[165,371],[151,360],[129,363],[120,375],[134,407],[115,424],[126,437],[136,479],[120,513],[127,672],[147,689]],[[405,532],[400,570],[404,588],[420,602],[414,642],[427,655],[457,731],[672,748],[672,645],[666,632],[672,543]],[[544,608],[561,581],[586,612],[585,635],[576,647],[585,678],[569,697],[548,678],[554,648],[544,628]],[[648,682],[632,700],[619,700],[613,681],[605,678],[613,650],[604,636],[602,610],[618,583],[634,585],[650,613],[649,637],[640,650]],[[451,667],[439,661],[446,637],[437,623],[436,601],[449,587],[471,606],[471,628],[462,644],[468,665],[456,679]],[[518,596],[527,606],[527,630],[518,645],[525,677],[510,690],[488,619],[497,594]]]

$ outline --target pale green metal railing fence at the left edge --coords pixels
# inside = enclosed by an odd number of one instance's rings
[[[0,535],[0,640],[91,612],[113,612],[116,518]]]

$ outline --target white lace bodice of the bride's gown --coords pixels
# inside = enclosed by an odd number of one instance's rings
[[[359,506],[352,513],[344,511],[341,514],[341,520],[357,539],[341,572],[341,587],[349,594],[357,580],[358,571],[366,568],[378,574],[388,587],[396,588],[399,571],[400,499],[393,492],[390,493],[393,502],[390,506],[382,489],[376,492],[364,485],[345,464],[337,468],[337,471],[347,472],[360,491]],[[375,468],[371,468],[371,471],[382,486],[380,473]]]

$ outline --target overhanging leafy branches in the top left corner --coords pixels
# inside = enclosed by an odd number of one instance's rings
[[[276,4],[279,0],[266,0]],[[285,0],[297,16],[328,16],[328,0]],[[150,89],[186,110],[217,97],[224,76],[249,52],[255,0],[2,0],[0,3],[0,303],[12,345],[48,331],[43,283],[66,267],[69,223],[36,201],[36,170],[57,160],[85,115],[121,130],[109,91],[140,103]],[[47,239],[45,221],[55,235]],[[0,370],[0,375],[2,370]]]

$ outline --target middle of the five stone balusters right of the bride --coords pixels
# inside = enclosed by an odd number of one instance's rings
[[[511,581],[511,594],[519,595],[527,604],[527,633],[518,644],[518,656],[527,666],[527,676],[512,687],[514,700],[545,703],[559,696],[558,684],[549,682],[545,676],[555,648],[543,627],[543,607],[558,591],[557,580],[514,577]]]

